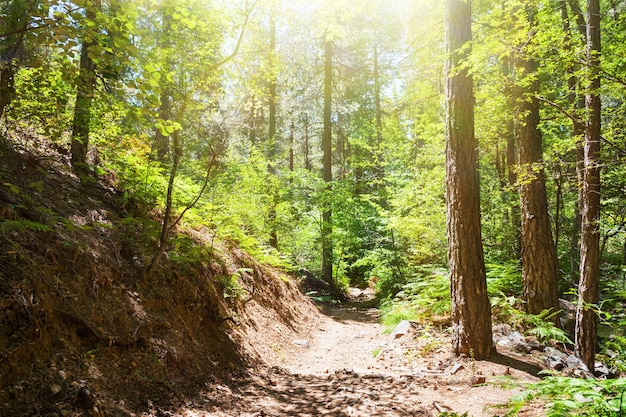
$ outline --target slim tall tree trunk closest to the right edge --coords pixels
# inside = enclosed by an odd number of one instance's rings
[[[576,355],[593,372],[600,293],[600,1],[587,1],[587,63],[590,85],[585,97],[585,181],[583,182],[580,284],[576,314]]]

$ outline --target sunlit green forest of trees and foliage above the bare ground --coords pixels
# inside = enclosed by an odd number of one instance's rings
[[[202,231],[320,299],[373,288],[388,323],[447,317],[456,356],[489,359],[492,325],[515,323],[613,381],[559,403],[575,382],[550,376],[535,394],[553,415],[626,410],[626,2],[0,0],[0,16],[2,141],[116,190],[128,227],[156,221],[143,277],[202,262]],[[14,175],[2,195],[41,193]],[[6,201],[0,239],[47,230]]]

